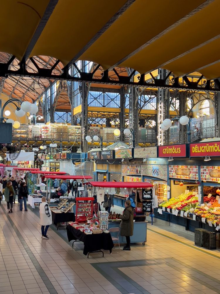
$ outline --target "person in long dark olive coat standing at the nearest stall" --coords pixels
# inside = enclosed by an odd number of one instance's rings
[[[125,201],[125,210],[123,211],[123,215],[119,215],[119,218],[122,220],[120,224],[121,228],[121,236],[126,237],[126,246],[124,246],[123,250],[131,250],[130,244],[131,239],[130,236],[133,235],[133,228],[134,228],[134,209],[131,207],[131,201]]]

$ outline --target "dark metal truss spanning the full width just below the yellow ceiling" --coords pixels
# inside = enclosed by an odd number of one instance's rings
[[[36,57],[37,58],[37,57]],[[41,67],[34,58],[28,59],[27,63],[23,60],[20,63],[17,62],[16,69],[12,69],[10,66],[15,60],[15,56],[11,56],[8,62],[0,64],[0,76],[8,78],[9,76],[28,77],[28,78],[43,78],[51,80],[66,80],[66,81],[78,81],[78,82],[90,82],[90,83],[102,83],[119,86],[142,86],[148,88],[168,88],[179,90],[203,90],[203,91],[220,91],[219,79],[205,80],[201,75],[197,80],[192,81],[189,76],[174,77],[172,72],[167,72],[165,76],[159,75],[159,77],[152,76],[152,82],[145,81],[145,74],[138,76],[138,81],[133,81],[133,77],[136,74],[135,70],[131,70],[129,74],[126,74],[126,70],[114,67],[113,69],[103,70],[98,64],[91,72],[85,72],[83,69],[79,69],[74,62],[72,65],[77,71],[77,75],[71,75],[69,71],[69,65],[65,66],[60,72],[58,66],[59,60],[54,60],[52,66]],[[95,66],[95,64],[94,64]],[[31,68],[31,70],[30,70]],[[34,68],[34,70],[33,70]],[[58,69],[58,70],[57,70]],[[204,82],[201,84],[201,80]]]

